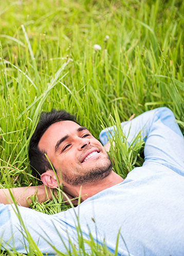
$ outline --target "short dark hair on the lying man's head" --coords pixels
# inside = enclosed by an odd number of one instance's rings
[[[49,161],[44,155],[45,152],[40,151],[38,144],[42,135],[46,130],[54,123],[61,121],[72,121],[79,124],[76,121],[76,117],[66,112],[65,110],[52,109],[50,112],[42,112],[40,114],[40,121],[36,126],[34,133],[29,142],[29,160],[33,175],[42,175],[48,169],[52,169]],[[54,167],[54,166],[53,166]],[[55,168],[54,168],[55,169]],[[56,169],[55,169],[56,170]],[[56,170],[57,171],[57,170]]]

